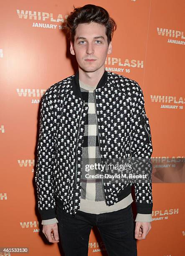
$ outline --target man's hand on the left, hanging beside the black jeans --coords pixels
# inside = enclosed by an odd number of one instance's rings
[[[49,225],[43,225],[43,233],[51,243],[58,243],[59,237],[58,237],[58,225],[57,223],[49,224]]]

